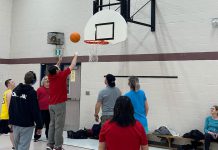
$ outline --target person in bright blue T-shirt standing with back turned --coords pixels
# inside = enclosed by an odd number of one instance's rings
[[[148,101],[147,97],[145,96],[145,92],[140,89],[139,79],[136,76],[131,76],[129,78],[128,85],[130,87],[130,91],[126,93],[125,96],[128,96],[132,102],[135,111],[135,119],[141,122],[146,133],[148,133]]]

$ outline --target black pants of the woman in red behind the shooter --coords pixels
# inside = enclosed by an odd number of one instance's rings
[[[45,135],[46,138],[48,138],[48,130],[49,130],[49,123],[50,123],[50,114],[49,114],[49,110],[41,110],[41,116],[42,116],[42,124],[43,126],[45,125]],[[34,134],[34,139],[38,140],[41,135],[37,135],[37,128],[35,128],[35,134]]]

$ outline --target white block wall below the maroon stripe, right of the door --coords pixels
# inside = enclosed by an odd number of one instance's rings
[[[105,87],[104,75],[178,76],[140,78],[149,103],[151,131],[167,125],[180,134],[192,129],[203,131],[210,107],[218,105],[218,61],[98,62],[82,63],[80,127],[91,127],[98,92]],[[117,78],[116,85],[126,93],[128,78]],[[86,91],[90,95],[86,95]]]

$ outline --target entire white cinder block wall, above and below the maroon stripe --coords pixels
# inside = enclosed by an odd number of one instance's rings
[[[11,2],[13,2],[13,9],[10,18]],[[212,28],[211,25],[211,18],[218,17],[217,0],[156,2],[155,32],[150,32],[147,27],[129,23],[127,41],[104,47],[98,51],[99,55],[217,50],[217,28]],[[142,6],[140,3],[144,4],[144,1],[137,1],[132,6],[140,7]],[[1,58],[8,58],[9,54],[10,58],[54,56],[55,47],[47,44],[47,32],[65,33],[64,56],[71,56],[75,51],[79,51],[80,55],[88,54],[89,49],[82,40],[85,24],[92,16],[92,1],[0,0],[0,4],[0,17],[3,18],[0,19],[0,39],[5,41],[0,41]],[[149,7],[146,8],[135,18],[139,21],[149,20],[150,10]],[[82,35],[81,42],[78,44],[69,41],[69,35],[73,31],[80,32]],[[8,40],[10,36],[11,45]],[[91,127],[94,123],[94,104],[98,91],[104,87],[103,75],[113,73],[115,75],[177,75],[178,79],[140,79],[150,104],[148,116],[150,129],[166,124],[180,133],[195,128],[202,130],[203,120],[208,114],[209,107],[218,103],[216,100],[217,65],[216,60],[82,63],[80,127]],[[8,68],[5,71],[8,71],[8,76],[22,80],[26,65],[1,66]],[[39,65],[27,66],[30,67],[27,67],[28,69],[33,66],[39,71]],[[128,90],[127,79],[117,79],[117,85],[123,92]],[[90,91],[91,95],[85,95],[85,91]]]

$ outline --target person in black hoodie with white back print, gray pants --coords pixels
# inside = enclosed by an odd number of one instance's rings
[[[29,150],[35,124],[37,134],[41,134],[42,129],[37,94],[32,87],[36,82],[36,74],[27,72],[24,82],[12,91],[9,107],[9,124],[13,129],[16,150]]]

